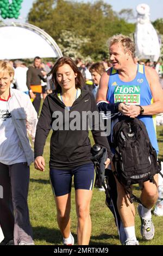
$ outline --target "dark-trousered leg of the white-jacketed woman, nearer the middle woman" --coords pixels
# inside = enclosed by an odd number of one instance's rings
[[[27,163],[15,163],[9,166],[11,177],[12,202],[15,212],[14,244],[34,244],[29,221],[28,187],[29,166]]]

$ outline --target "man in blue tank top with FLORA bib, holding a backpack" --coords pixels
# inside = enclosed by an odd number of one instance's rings
[[[112,68],[103,74],[99,84],[99,111],[111,111],[111,128],[124,117],[141,119],[158,153],[155,115],[163,112],[163,90],[158,74],[148,66],[135,64],[135,45],[128,36],[112,36],[109,51]],[[154,237],[151,209],[158,199],[158,174],[154,180],[155,184],[144,182],[140,197],[142,204],[137,208],[141,218],[141,235],[145,240]],[[126,234],[124,244],[139,245],[135,235],[134,204],[130,203],[123,186],[117,180],[116,183],[117,208]]]

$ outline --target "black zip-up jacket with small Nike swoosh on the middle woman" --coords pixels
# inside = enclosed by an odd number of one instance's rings
[[[78,120],[76,116],[71,117],[72,114],[76,114],[73,111],[77,111],[76,113],[79,115]],[[78,99],[74,101],[70,111],[68,111],[64,103],[60,101],[57,93],[54,92],[46,96],[36,129],[34,145],[35,157],[43,155],[46,138],[53,127],[49,161],[50,168],[71,169],[91,162],[92,154],[89,131],[87,127],[85,130],[81,129],[82,124],[85,124],[84,121],[86,120],[84,116],[82,117],[82,114],[85,113],[84,111],[98,112],[94,96],[85,90],[82,90]],[[58,114],[61,120],[60,123],[57,121],[59,117]],[[65,121],[65,115],[70,118],[70,121]],[[63,118],[61,118],[61,116]],[[65,124],[66,126],[67,124],[68,126],[69,124],[70,126],[74,124],[80,130],[66,130],[66,128],[63,130],[62,128],[65,127]],[[60,125],[59,130],[56,130],[54,127],[57,125]],[[108,150],[108,157],[112,159],[108,140],[106,137],[101,136],[101,130],[95,130],[96,125],[97,121],[93,119],[92,135],[95,143],[104,146]]]

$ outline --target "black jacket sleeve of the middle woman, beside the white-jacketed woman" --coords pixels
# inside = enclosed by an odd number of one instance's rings
[[[51,130],[52,115],[49,108],[48,96],[46,96],[41,114],[36,128],[36,136],[34,143],[35,158],[43,155],[43,148],[45,147],[46,138]]]

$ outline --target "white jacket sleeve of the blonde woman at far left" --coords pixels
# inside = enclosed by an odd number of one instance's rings
[[[34,162],[34,152],[30,146],[28,135],[34,142],[37,113],[28,95],[12,88],[10,88],[10,95],[11,97],[8,102],[9,112],[11,113],[11,118],[20,139],[27,163],[30,166]]]

